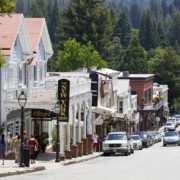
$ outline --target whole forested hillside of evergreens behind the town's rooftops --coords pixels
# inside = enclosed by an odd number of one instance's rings
[[[45,17],[50,71],[109,67],[154,73],[180,102],[179,0],[16,0],[16,12]]]

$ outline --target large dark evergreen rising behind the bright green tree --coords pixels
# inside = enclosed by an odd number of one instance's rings
[[[112,33],[110,9],[104,0],[71,0],[61,13],[65,40],[75,38],[82,44],[91,41],[95,49],[104,54]]]

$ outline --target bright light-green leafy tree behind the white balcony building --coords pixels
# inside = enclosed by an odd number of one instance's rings
[[[58,71],[74,71],[81,67],[89,69],[92,66],[105,67],[106,62],[91,42],[81,45],[75,39],[69,39],[64,43],[64,49],[58,52]]]

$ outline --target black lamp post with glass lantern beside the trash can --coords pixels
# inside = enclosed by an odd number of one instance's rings
[[[27,96],[22,90],[19,97],[18,97],[18,103],[19,106],[21,107],[21,159],[20,159],[20,164],[19,167],[24,167],[24,153],[23,153],[23,146],[24,146],[24,107],[27,102]]]

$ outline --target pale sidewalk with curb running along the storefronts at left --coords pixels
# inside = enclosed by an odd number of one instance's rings
[[[0,177],[42,171],[45,169],[55,168],[59,166],[80,163],[83,161],[97,158],[101,155],[102,152],[96,152],[82,157],[72,158],[70,160],[55,162],[55,152],[41,153],[38,155],[36,163],[30,164],[30,167],[19,167],[14,160],[5,160],[5,165],[2,165],[0,160]]]

